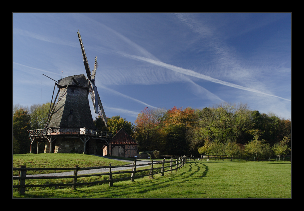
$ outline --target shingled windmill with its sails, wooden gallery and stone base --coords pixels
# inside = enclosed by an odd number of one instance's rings
[[[45,128],[29,131],[31,152],[32,143],[36,139],[37,153],[39,142],[46,142],[45,153],[96,154],[97,144],[108,145],[111,139],[111,133],[96,130],[89,106],[88,95],[91,95],[95,113],[102,117],[106,125],[106,115],[95,86],[97,57],[91,74],[79,30],[77,34],[87,78],[81,74],[60,79],[58,83],[56,81],[55,86],[57,85],[59,90],[52,104],[53,107],[50,108]],[[54,92],[52,101],[53,97]],[[55,103],[57,97],[58,101]]]

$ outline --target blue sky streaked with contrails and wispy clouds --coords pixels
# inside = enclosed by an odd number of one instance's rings
[[[242,102],[291,118],[291,13],[13,13],[13,105],[51,101],[42,74],[86,75],[78,29],[107,117]]]

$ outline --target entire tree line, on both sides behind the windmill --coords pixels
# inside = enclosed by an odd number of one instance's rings
[[[27,130],[44,128],[49,109],[49,102],[30,108],[13,106],[13,153],[29,152]],[[112,132],[112,137],[124,129],[139,143],[139,151],[232,157],[291,153],[291,119],[261,114],[242,103],[221,103],[203,109],[146,107],[135,124],[120,116],[107,117],[107,127],[99,116],[94,123],[98,130]]]

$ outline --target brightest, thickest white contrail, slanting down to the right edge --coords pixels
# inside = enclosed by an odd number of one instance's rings
[[[181,67],[176,67],[174,65],[167,64],[167,63],[160,62],[160,61],[156,61],[156,60],[153,60],[153,59],[150,59],[150,58],[145,58],[145,57],[135,56],[135,55],[129,55],[129,54],[123,54],[123,55],[126,56],[126,57],[129,57],[129,58],[132,58],[132,59],[139,59],[139,60],[142,60],[142,61],[145,61],[145,62],[149,62],[151,64],[155,64],[155,65],[160,66],[160,67],[165,67],[169,70],[173,70],[175,72],[178,72],[178,73],[181,73],[181,74],[184,74],[184,75],[189,75],[189,76],[196,77],[196,78],[199,78],[199,79],[208,80],[208,81],[211,81],[211,82],[214,82],[214,83],[217,83],[217,84],[222,84],[222,85],[230,86],[230,87],[237,88],[237,89],[242,89],[242,90],[246,90],[246,91],[250,91],[250,92],[255,92],[255,93],[259,93],[259,94],[268,95],[268,96],[271,96],[271,97],[277,97],[277,98],[280,98],[280,99],[283,99],[283,100],[291,101],[291,100],[285,99],[283,97],[279,97],[279,96],[272,95],[272,94],[267,94],[267,93],[258,91],[256,89],[243,87],[243,86],[240,86],[240,85],[237,85],[237,84],[232,84],[232,83],[229,83],[229,82],[226,82],[226,81],[222,81],[222,80],[219,80],[219,79],[212,78],[212,77],[207,76],[207,75],[200,74],[200,73],[195,72],[193,70],[189,70],[189,69],[185,69],[185,68],[181,68]]]

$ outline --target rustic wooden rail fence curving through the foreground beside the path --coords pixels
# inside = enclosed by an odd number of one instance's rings
[[[20,166],[20,168],[13,168],[13,171],[19,171],[18,177],[13,177],[13,180],[19,180],[19,185],[13,185],[13,188],[18,188],[18,192],[23,195],[25,192],[26,187],[54,187],[54,186],[72,186],[72,189],[75,190],[76,186],[82,186],[82,185],[92,185],[92,184],[100,184],[100,183],[109,183],[109,186],[113,186],[113,182],[121,181],[121,180],[128,180],[131,179],[131,181],[134,181],[135,178],[145,177],[149,176],[151,179],[153,179],[153,175],[155,174],[161,174],[161,176],[164,175],[164,172],[167,171],[177,171],[181,167],[185,165],[187,161],[187,158],[185,156],[180,157],[179,159],[176,159],[175,161],[170,159],[170,161],[165,161],[163,159],[162,162],[153,162],[151,161],[151,164],[140,164],[136,165],[136,161],[133,162],[132,170],[127,171],[118,171],[118,172],[112,172],[112,168],[121,168],[126,166],[111,166],[111,163],[109,166],[98,166],[98,167],[87,167],[87,168],[80,168],[78,165],[75,165],[74,168],[27,168],[26,166]],[[170,166],[165,166],[165,163],[170,163]],[[154,168],[153,164],[162,164],[159,168]],[[142,170],[136,170],[136,167],[139,166],[147,166],[149,165],[149,169],[142,169]],[[172,168],[173,167],[173,168]],[[169,170],[165,170],[166,168],[170,168]],[[109,169],[109,173],[101,173],[101,174],[87,174],[87,175],[77,175],[79,170],[91,170],[91,169]],[[155,170],[160,169],[160,172],[155,172]],[[73,176],[26,176],[26,171],[39,171],[39,170],[74,170]],[[147,171],[150,170],[149,174],[144,175],[135,175],[137,172]],[[125,173],[131,173],[131,177],[125,177],[125,178],[119,178],[119,179],[112,179],[113,174],[125,174]],[[88,182],[88,183],[77,183],[77,178],[81,177],[93,177],[93,176],[103,176],[103,175],[109,175],[109,179],[107,180],[101,180],[101,181],[95,181],[95,182]],[[73,179],[72,183],[61,183],[61,184],[44,184],[44,185],[26,185],[25,180],[26,179]]]

